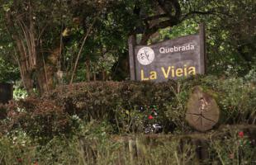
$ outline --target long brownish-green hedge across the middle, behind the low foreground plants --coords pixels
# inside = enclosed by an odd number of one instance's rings
[[[254,124],[256,90],[243,78],[199,76],[178,82],[85,82],[61,86],[40,98],[7,106],[7,128],[21,127],[36,139],[74,134],[79,122],[107,120],[111,134],[190,132],[185,121],[187,100],[195,86],[216,98],[221,124]],[[10,127],[11,125],[11,127]],[[45,137],[45,138],[44,138]]]

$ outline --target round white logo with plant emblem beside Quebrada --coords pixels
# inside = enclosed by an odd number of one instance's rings
[[[149,47],[143,47],[137,54],[137,59],[142,65],[151,64],[154,61],[154,50]]]

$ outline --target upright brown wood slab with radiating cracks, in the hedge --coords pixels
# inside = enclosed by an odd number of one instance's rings
[[[211,130],[220,119],[220,109],[210,94],[194,87],[187,102],[186,120],[194,129],[201,132]]]

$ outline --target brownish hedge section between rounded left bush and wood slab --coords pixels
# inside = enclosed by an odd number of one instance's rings
[[[83,120],[108,119],[116,132],[144,130],[153,109],[156,122],[169,125],[164,111],[173,102],[177,84],[173,81],[152,82],[88,82],[59,87],[43,99],[54,100],[64,106],[69,115],[78,115]],[[157,106],[157,107],[156,107]]]

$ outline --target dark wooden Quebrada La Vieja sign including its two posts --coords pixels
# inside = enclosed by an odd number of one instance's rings
[[[130,79],[165,82],[168,79],[205,73],[205,32],[154,45],[136,45],[129,39]]]

